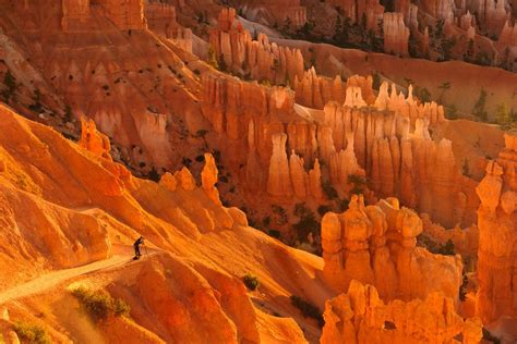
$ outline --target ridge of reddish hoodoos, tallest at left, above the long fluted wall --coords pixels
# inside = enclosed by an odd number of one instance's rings
[[[219,62],[242,76],[275,85],[292,84],[297,76],[303,77],[301,51],[269,44],[264,34],[252,39],[237,20],[235,9],[220,12],[218,26],[211,30],[209,42]]]

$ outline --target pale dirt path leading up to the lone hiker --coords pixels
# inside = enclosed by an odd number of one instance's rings
[[[154,255],[154,254],[156,253],[155,251],[151,253],[151,255]],[[100,270],[108,270],[118,266],[123,266],[125,263],[131,262],[132,258],[133,258],[132,250],[119,249],[119,251],[109,259],[95,261],[95,262],[81,266],[77,268],[52,271],[35,280],[16,285],[4,292],[0,292],[0,305],[9,300],[13,300],[13,299],[22,298],[22,297],[29,296],[33,294],[45,292],[46,290],[52,288],[57,286],[58,284],[61,284],[68,280],[71,280],[80,275],[84,275],[84,274],[100,271]]]

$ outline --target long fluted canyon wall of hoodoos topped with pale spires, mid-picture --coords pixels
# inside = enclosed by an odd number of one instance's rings
[[[428,128],[428,124],[445,121],[443,108],[435,102],[421,103],[411,89],[407,97],[394,86],[389,93],[386,83],[375,98],[370,84],[371,78],[352,77],[344,87],[344,106],[329,102],[323,113],[304,113],[294,106],[291,90],[212,74],[203,77],[202,108],[216,132],[236,143],[228,147],[230,156],[250,172],[245,177],[254,191],[285,199],[306,195],[313,188],[310,183],[299,182],[305,186],[298,187],[297,194],[279,175],[287,177],[293,169],[299,171],[293,172],[294,179],[304,181],[299,168],[309,175],[317,158],[320,172],[314,173],[322,181],[329,180],[342,195],[357,186],[350,175],[363,176],[364,186],[377,197],[399,197],[405,206],[429,213],[448,228],[471,224],[479,206],[476,183],[461,174],[450,142],[433,142]],[[316,89],[303,87],[297,89]],[[363,100],[362,89],[370,95],[371,106]],[[314,99],[308,95],[304,99]],[[281,133],[285,136],[273,138]],[[257,170],[268,173],[252,173]],[[281,185],[281,189],[274,191],[274,185]]]

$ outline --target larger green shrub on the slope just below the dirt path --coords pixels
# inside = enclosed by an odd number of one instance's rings
[[[109,316],[127,317],[131,310],[124,300],[112,298],[104,291],[92,292],[84,287],[79,287],[72,291],[72,295],[79,299],[84,310],[96,322],[105,320]]]

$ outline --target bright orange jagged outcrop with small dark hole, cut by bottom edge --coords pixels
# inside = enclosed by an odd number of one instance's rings
[[[377,290],[352,281],[347,294],[325,303],[321,344],[461,343],[481,341],[478,318],[464,320],[450,298],[432,293],[422,299],[384,303]]]

